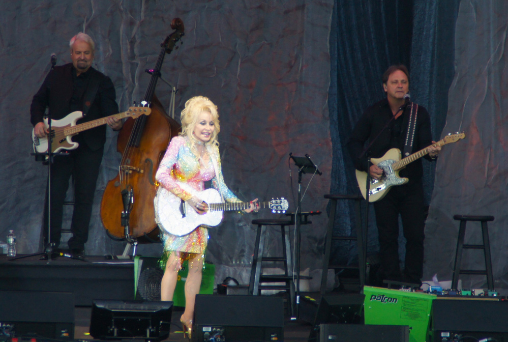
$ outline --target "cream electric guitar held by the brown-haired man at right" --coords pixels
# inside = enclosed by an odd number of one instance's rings
[[[431,146],[443,146],[450,143],[455,143],[459,139],[464,139],[466,136],[464,133],[448,134],[443,139],[437,141],[437,143]],[[423,150],[415,152],[404,159],[401,158],[401,152],[399,149],[391,149],[384,154],[381,158],[372,158],[371,162],[383,169],[383,175],[379,180],[371,178],[370,189],[369,189],[369,202],[376,202],[381,200],[391,186],[402,185],[409,181],[407,178],[400,178],[399,171],[406,167],[407,164],[422,158],[429,153],[429,147]],[[367,199],[366,184],[367,184],[367,173],[356,170],[356,181],[358,187],[364,198]]]

